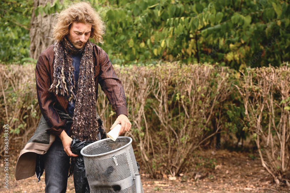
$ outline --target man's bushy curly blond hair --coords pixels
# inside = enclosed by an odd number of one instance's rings
[[[84,1],[72,3],[56,15],[58,17],[52,30],[52,40],[61,41],[69,33],[73,23],[84,23],[92,26],[90,38],[96,43],[104,43],[105,23],[90,3]]]

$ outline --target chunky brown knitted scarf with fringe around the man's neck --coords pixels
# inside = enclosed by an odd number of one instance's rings
[[[95,98],[95,73],[93,45],[90,41],[82,49],[75,48],[67,38],[54,44],[53,83],[48,91],[75,101],[70,137],[80,141],[97,141],[97,100]],[[79,82],[75,87],[72,54],[82,53]],[[73,92],[76,90],[76,95]]]

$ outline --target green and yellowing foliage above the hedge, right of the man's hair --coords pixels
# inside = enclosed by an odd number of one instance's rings
[[[233,4],[234,2],[234,4]],[[93,1],[113,63],[219,62],[234,69],[290,59],[287,1]]]

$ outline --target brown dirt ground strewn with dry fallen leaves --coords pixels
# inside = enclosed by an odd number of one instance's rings
[[[9,189],[4,187],[4,161],[0,161],[0,192],[44,192],[44,175],[38,183],[36,176],[28,179],[15,180],[15,164],[19,155],[18,150],[10,156],[9,162]],[[199,151],[197,162],[188,174],[178,177],[151,179],[142,171],[141,181],[144,193],[146,192],[180,192],[180,193],[238,193],[238,192],[290,192],[285,184],[276,185],[260,164],[260,160],[252,160],[249,153],[219,151]],[[68,179],[68,193],[75,192],[73,178]]]

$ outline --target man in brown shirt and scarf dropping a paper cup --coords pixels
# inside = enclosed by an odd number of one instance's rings
[[[43,160],[45,191],[66,192],[69,159],[77,157],[70,150],[72,138],[81,141],[101,138],[102,121],[96,112],[98,83],[116,111],[117,119],[110,129],[121,124],[120,135],[130,130],[122,83],[108,55],[88,40],[103,43],[104,29],[102,19],[89,3],[70,5],[59,14],[52,38],[56,43],[42,52],[37,61],[37,97],[43,117],[19,155],[17,180],[31,175],[32,172],[24,175],[23,160],[37,153],[35,171],[40,179]],[[40,140],[47,132],[49,143]],[[29,167],[32,170],[33,164]]]

